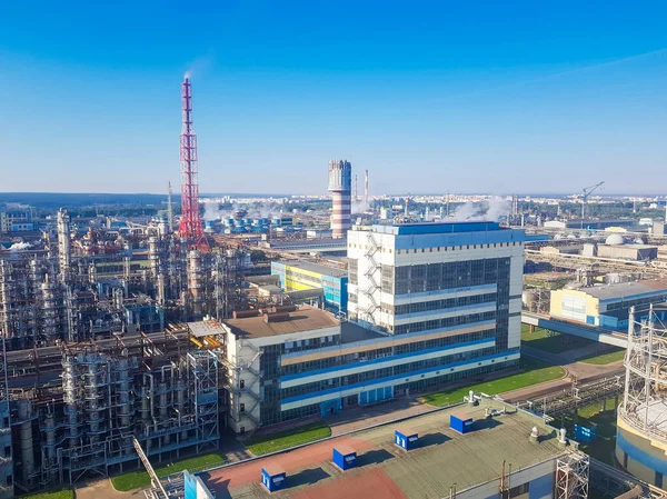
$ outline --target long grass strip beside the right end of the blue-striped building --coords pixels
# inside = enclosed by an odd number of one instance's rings
[[[522,369],[522,372],[506,376],[505,378],[498,378],[452,390],[437,391],[422,398],[426,403],[442,407],[450,403],[462,402],[464,397],[467,396],[470,390],[476,392],[482,391],[487,395],[498,395],[558,379],[565,375],[565,370],[558,366],[549,366],[527,358],[521,359],[520,369]]]

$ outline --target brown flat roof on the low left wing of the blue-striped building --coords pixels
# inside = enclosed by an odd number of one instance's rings
[[[289,320],[266,322],[263,316],[225,319],[231,332],[239,337],[263,338],[334,328],[340,322],[329,312],[309,306],[301,306],[289,313]]]

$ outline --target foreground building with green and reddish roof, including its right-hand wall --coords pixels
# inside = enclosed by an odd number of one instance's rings
[[[471,421],[470,431],[450,427],[451,417]],[[374,429],[315,442],[288,453],[210,470],[216,497],[266,498],[262,470],[278,469],[285,498],[520,498],[586,497],[589,459],[537,416],[509,411],[481,398],[412,417],[417,445],[396,445],[401,427]],[[401,423],[402,425],[402,423]],[[355,455],[355,466],[337,466],[336,451]],[[252,478],[250,478],[252,477]]]

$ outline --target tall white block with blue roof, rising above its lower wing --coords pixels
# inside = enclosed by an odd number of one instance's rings
[[[386,335],[474,325],[498,352],[520,345],[522,230],[496,222],[374,226],[348,232],[348,312]],[[484,325],[484,326],[479,326]]]

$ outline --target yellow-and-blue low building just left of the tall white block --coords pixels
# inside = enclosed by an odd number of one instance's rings
[[[271,275],[280,277],[280,286],[287,292],[322,289],[325,307],[332,312],[347,312],[346,269],[309,261],[271,262]]]

